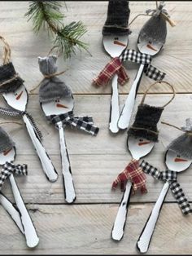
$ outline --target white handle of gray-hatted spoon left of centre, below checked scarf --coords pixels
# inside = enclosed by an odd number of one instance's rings
[[[72,170],[71,170],[70,161],[68,157],[68,149],[66,147],[66,142],[64,138],[64,130],[63,130],[62,122],[58,122],[57,124],[59,127],[59,143],[60,143],[60,152],[61,152],[61,160],[62,160],[65,201],[67,201],[68,204],[72,204],[72,202],[76,200],[76,192],[75,192],[75,188],[72,180]]]

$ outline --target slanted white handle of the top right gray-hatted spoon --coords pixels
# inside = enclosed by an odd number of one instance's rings
[[[133,112],[134,102],[137,95],[138,86],[140,84],[142,73],[145,65],[141,64],[137,76],[135,77],[135,80],[133,82],[133,85],[131,86],[131,90],[129,91],[129,95],[125,101],[124,107],[120,113],[120,118],[118,121],[118,126],[120,129],[126,129],[129,127],[129,122],[131,119],[131,115]]]

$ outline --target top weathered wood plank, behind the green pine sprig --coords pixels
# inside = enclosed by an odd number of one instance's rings
[[[63,7],[66,23],[72,20],[82,20],[86,25],[87,33],[84,36],[84,40],[89,42],[89,51],[92,56],[85,51],[77,51],[72,60],[65,62],[59,60],[59,70],[69,68],[63,75],[63,79],[69,86],[72,86],[74,93],[109,94],[111,93],[111,86],[102,89],[96,89],[91,86],[92,79],[98,75],[101,68],[103,68],[103,64],[106,64],[107,60],[109,60],[109,56],[103,50],[101,33],[107,17],[107,2],[70,1],[67,6],[68,11]],[[155,2],[151,1],[130,2],[130,20],[135,15],[153,7],[155,8]],[[168,74],[166,80],[176,86],[177,92],[192,92],[190,86],[192,78],[190,45],[192,38],[190,33],[192,5],[190,2],[166,2],[166,7],[170,15],[172,15],[172,19],[176,20],[177,26],[172,29],[168,24],[167,42],[164,50],[153,60],[153,64]],[[27,18],[24,17],[27,8],[28,2],[0,2],[0,24],[2,36],[7,38],[11,45],[12,60],[15,68],[25,80],[28,89],[31,89],[41,80],[37,56],[46,55],[51,43],[45,31],[38,35],[33,33],[31,22],[28,23]],[[146,19],[145,16],[141,16],[131,25],[130,48],[137,48],[137,34]],[[138,66],[126,64],[126,67],[129,69],[130,80],[124,87],[120,87],[120,93],[124,94],[129,92]],[[146,90],[149,82],[151,82],[151,79],[143,76],[139,92]],[[157,91],[164,93],[168,92],[168,89],[162,86]]]

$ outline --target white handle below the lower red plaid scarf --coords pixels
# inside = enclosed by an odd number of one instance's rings
[[[111,231],[111,238],[115,241],[120,241],[124,236],[124,227],[128,213],[131,188],[132,184],[128,181]]]

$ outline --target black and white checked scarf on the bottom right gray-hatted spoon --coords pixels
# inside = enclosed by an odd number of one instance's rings
[[[190,208],[190,203],[187,201],[185,194],[180,186],[180,183],[177,182],[177,172],[172,170],[159,171],[154,166],[151,166],[147,161],[143,160],[140,164],[142,170],[146,174],[151,174],[155,179],[168,181],[170,184],[170,189],[172,194],[175,196],[178,205],[181,208],[183,214],[192,213]]]

